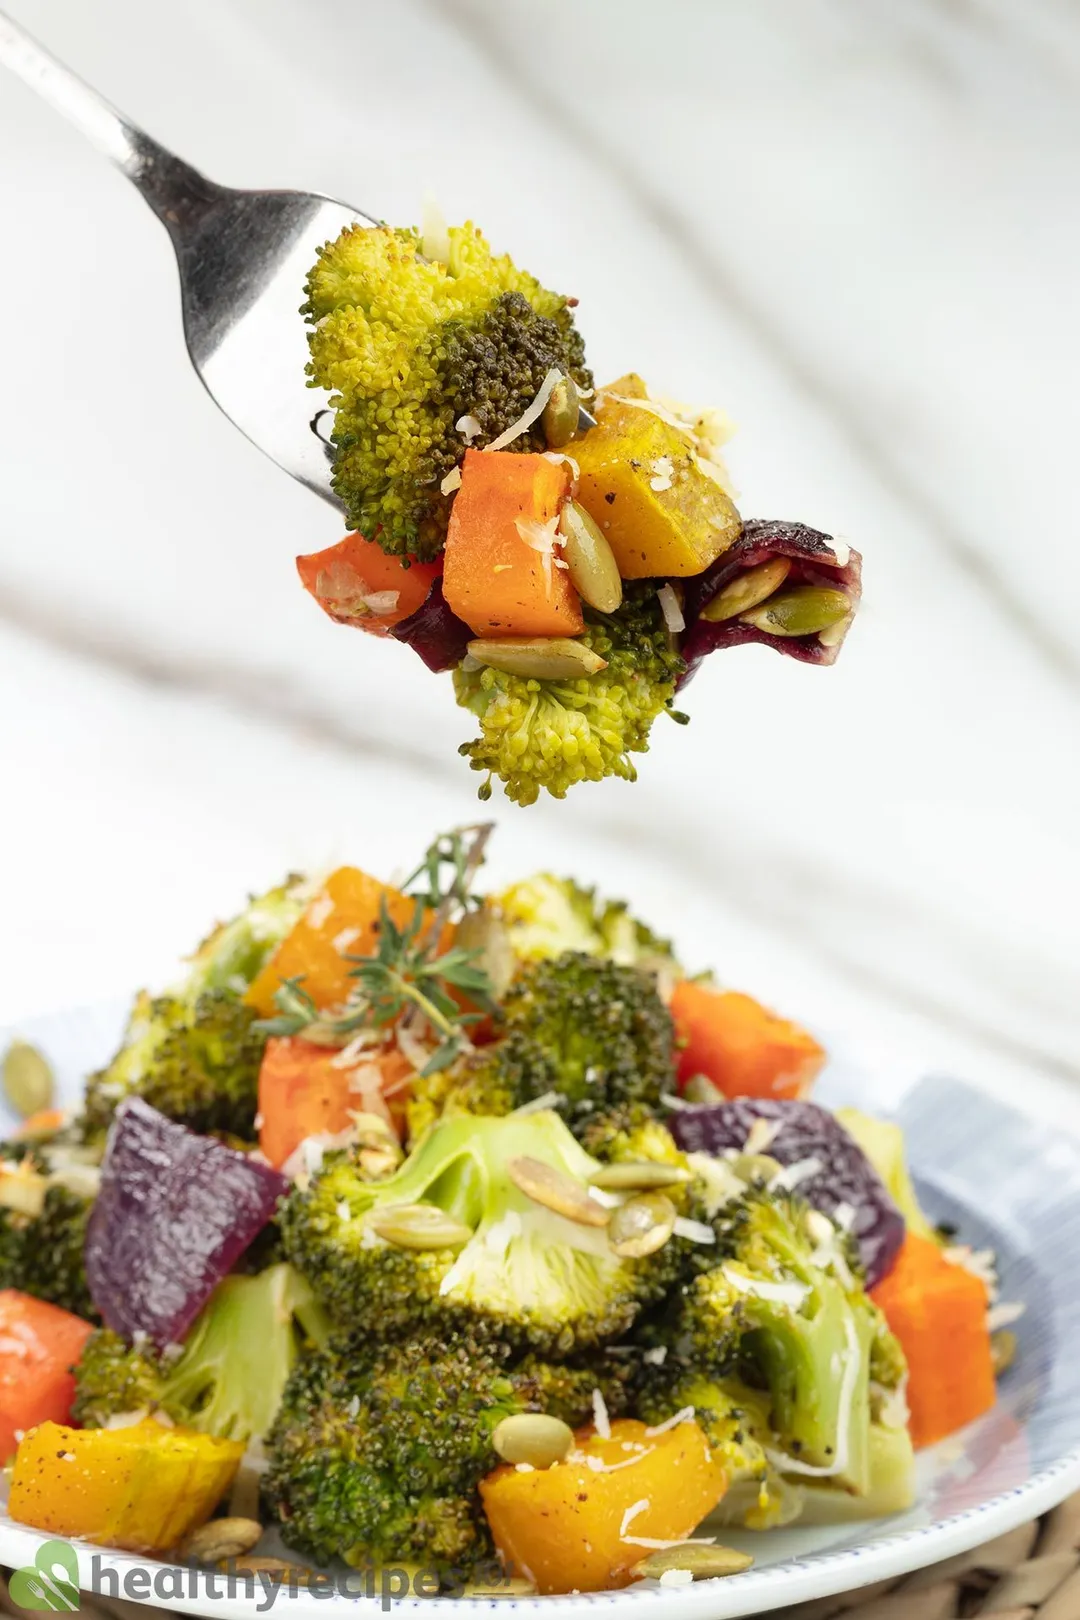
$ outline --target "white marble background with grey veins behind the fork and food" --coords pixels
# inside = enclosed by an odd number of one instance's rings
[[[217,178],[432,190],[740,424],[751,515],[866,554],[837,669],[753,648],[636,787],[495,807],[824,1030],[1080,1077],[1074,0],[8,0]],[[283,867],[471,815],[466,721],[334,630],[332,514],[186,366],[170,249],[0,81],[0,1021],[168,972]]]

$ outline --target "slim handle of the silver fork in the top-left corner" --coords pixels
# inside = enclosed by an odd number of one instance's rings
[[[170,232],[189,225],[220,196],[220,186],[117,112],[5,11],[0,11],[0,65],[81,130],[142,193]]]

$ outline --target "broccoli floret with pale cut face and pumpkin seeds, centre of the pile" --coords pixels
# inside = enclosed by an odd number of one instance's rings
[[[510,1179],[517,1158],[581,1186],[597,1168],[551,1111],[440,1119],[387,1181],[364,1181],[342,1157],[293,1192],[287,1254],[347,1330],[465,1327],[560,1356],[615,1338],[667,1288],[670,1260],[619,1259],[602,1228],[528,1197]],[[400,1207],[421,1204],[444,1212],[445,1239],[439,1228],[413,1238]]]

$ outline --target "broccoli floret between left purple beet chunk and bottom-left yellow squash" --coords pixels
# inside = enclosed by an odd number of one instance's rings
[[[327,1324],[291,1265],[227,1277],[178,1356],[159,1358],[108,1328],[94,1333],[74,1372],[74,1421],[104,1427],[149,1408],[219,1440],[259,1439],[274,1422],[304,1335],[322,1343]]]

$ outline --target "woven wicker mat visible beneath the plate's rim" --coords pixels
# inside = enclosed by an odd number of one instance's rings
[[[672,1617],[678,1596],[672,1592]],[[0,1575],[0,1610],[16,1620],[40,1620],[19,1609]],[[86,1597],[83,1620],[154,1620],[165,1610],[121,1597]],[[1046,1518],[999,1536],[973,1552],[933,1563],[899,1581],[863,1586],[814,1604],[774,1610],[776,1620],[1080,1620],[1080,1495]]]

